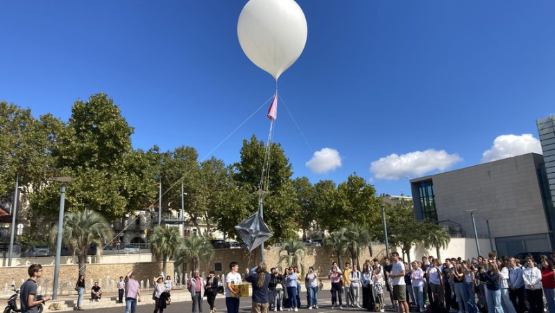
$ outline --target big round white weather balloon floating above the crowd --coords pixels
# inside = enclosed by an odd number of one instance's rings
[[[250,61],[276,81],[307,43],[307,19],[294,0],[250,0],[237,23],[239,44]]]

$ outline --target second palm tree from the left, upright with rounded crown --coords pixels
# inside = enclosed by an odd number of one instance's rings
[[[167,262],[174,257],[182,244],[179,228],[166,226],[155,226],[152,234],[148,237],[148,248],[156,257],[162,257],[162,273],[166,275]]]

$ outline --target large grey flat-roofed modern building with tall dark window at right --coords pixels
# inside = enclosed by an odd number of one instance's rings
[[[444,225],[456,237],[475,237],[474,210],[478,237],[490,237],[499,255],[555,250],[543,155],[518,155],[410,183],[418,220]]]

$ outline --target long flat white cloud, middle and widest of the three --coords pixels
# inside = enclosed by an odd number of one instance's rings
[[[370,172],[376,178],[395,180],[407,176],[422,176],[429,171],[445,171],[461,160],[463,158],[458,154],[449,154],[445,150],[428,149],[402,155],[393,153],[372,162]]]

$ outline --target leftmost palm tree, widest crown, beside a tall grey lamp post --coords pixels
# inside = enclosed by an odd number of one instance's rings
[[[50,235],[51,242],[56,243],[58,223],[52,226]],[[62,243],[77,254],[79,275],[85,276],[89,246],[94,244],[96,253],[100,254],[103,244],[112,238],[112,228],[99,212],[85,209],[67,212],[64,216]]]

